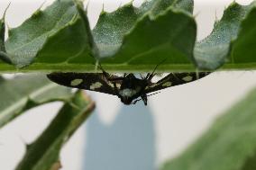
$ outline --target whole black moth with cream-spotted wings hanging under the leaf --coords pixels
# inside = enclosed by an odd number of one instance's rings
[[[147,105],[151,93],[170,86],[186,84],[209,74],[209,72],[170,73],[160,81],[152,83],[151,79],[155,76],[157,67],[152,73],[141,78],[137,78],[132,73],[123,76],[110,75],[102,67],[100,68],[102,73],[51,73],[47,76],[59,85],[117,95],[126,105],[141,100]],[[141,99],[138,99],[140,97]]]

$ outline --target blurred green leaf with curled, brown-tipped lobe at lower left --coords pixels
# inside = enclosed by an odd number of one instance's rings
[[[17,170],[59,169],[59,150],[78,127],[94,110],[86,94],[72,94],[66,87],[51,83],[39,74],[16,76],[5,79],[1,76],[0,128],[20,114],[44,103],[61,101],[64,104],[39,139],[27,146],[23,161]],[[29,123],[28,123],[29,124]]]

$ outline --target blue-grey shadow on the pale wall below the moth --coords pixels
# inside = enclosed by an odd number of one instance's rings
[[[154,170],[155,136],[152,114],[143,104],[123,106],[111,125],[95,113],[87,121],[83,170]]]

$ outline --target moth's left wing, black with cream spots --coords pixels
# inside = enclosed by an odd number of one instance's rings
[[[104,94],[113,94],[114,84],[107,81],[102,73],[51,73],[48,78],[59,85],[72,88],[85,89]],[[120,86],[120,82],[115,82],[116,86]]]

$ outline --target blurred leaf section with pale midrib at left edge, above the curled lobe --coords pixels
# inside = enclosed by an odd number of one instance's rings
[[[0,81],[0,128],[21,113],[43,103],[69,101],[70,89],[51,83],[45,75],[17,76]]]

